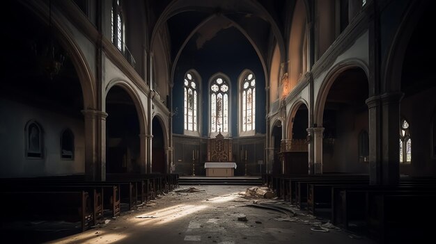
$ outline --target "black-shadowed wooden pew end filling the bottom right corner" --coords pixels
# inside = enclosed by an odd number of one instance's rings
[[[368,192],[367,202],[369,236],[379,243],[435,240],[431,221],[436,217],[436,190]]]

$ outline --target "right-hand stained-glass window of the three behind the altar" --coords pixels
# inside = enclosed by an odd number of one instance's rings
[[[254,131],[256,128],[256,79],[254,74],[247,73],[240,86],[242,131]]]

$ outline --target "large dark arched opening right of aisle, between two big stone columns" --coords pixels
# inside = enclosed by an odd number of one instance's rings
[[[322,172],[368,173],[368,150],[359,149],[368,140],[368,136],[361,136],[368,131],[366,99],[368,78],[364,70],[350,67],[336,76],[322,116]]]

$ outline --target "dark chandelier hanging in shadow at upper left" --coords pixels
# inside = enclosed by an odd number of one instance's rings
[[[49,1],[49,30],[47,37],[41,38],[39,42],[33,44],[33,51],[40,65],[40,70],[46,74],[50,80],[59,74],[65,56],[59,44],[57,44],[52,30],[52,1]]]

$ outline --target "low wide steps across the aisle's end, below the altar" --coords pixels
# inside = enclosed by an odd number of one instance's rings
[[[179,177],[179,185],[261,186],[260,177]]]

